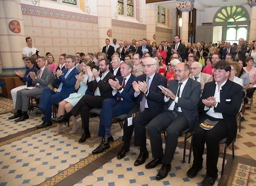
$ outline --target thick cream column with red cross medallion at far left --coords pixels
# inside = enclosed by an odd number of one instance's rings
[[[26,69],[22,60],[25,38],[20,0],[0,0],[0,17],[1,76],[14,76],[13,70]]]

